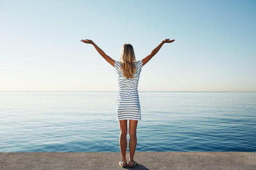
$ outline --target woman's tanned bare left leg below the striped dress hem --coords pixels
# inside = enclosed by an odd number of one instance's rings
[[[127,120],[119,120],[120,126],[120,139],[119,145],[122,155],[122,161],[126,161],[126,149],[127,149]],[[125,165],[125,163],[123,164]]]

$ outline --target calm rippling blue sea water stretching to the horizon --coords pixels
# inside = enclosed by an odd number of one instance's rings
[[[0,152],[120,152],[117,95],[0,92]],[[139,99],[136,151],[256,152],[256,93],[139,92]]]

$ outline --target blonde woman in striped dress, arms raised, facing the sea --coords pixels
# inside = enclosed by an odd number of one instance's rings
[[[92,44],[99,54],[113,67],[115,67],[118,73],[119,80],[119,93],[117,98],[117,120],[120,127],[120,139],[119,145],[121,150],[122,160],[119,162],[119,166],[125,168],[126,166],[133,168],[138,165],[133,160],[135,155],[135,149],[137,145],[137,124],[141,120],[139,95],[137,86],[139,82],[139,75],[142,66],[144,66],[162,47],[164,43],[170,43],[175,40],[165,39],[163,40],[150,55],[144,59],[136,61],[135,53],[131,44],[124,44],[121,49],[121,55],[119,61],[113,60],[106,55],[92,40],[81,40],[81,42]],[[127,148],[127,120],[129,120],[129,151],[130,161],[127,164],[126,161],[126,148]]]

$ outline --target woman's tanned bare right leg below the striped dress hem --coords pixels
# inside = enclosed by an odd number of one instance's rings
[[[129,120],[129,135],[130,135],[130,140],[129,140],[129,152],[130,152],[130,160],[129,162],[133,161],[133,157],[135,154],[136,150],[136,145],[137,145],[137,135],[136,135],[136,130],[137,130],[137,120]],[[130,166],[133,164],[129,163]]]

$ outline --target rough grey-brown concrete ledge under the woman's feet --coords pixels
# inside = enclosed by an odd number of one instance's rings
[[[127,153],[129,161],[129,153]],[[256,152],[135,152],[133,170],[256,170]],[[120,152],[0,152],[0,170],[122,170]]]

